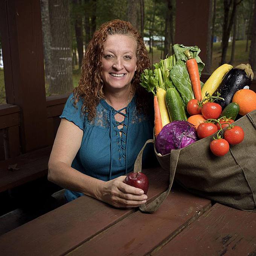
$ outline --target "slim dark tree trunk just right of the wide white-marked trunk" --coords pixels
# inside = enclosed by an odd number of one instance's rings
[[[76,12],[76,20],[75,20],[75,34],[76,34],[76,46],[78,51],[78,62],[79,68],[82,64],[82,59],[84,57],[84,42],[83,42],[83,26],[82,26],[82,16],[81,16],[81,0],[73,0],[73,5],[75,10],[79,10]]]

